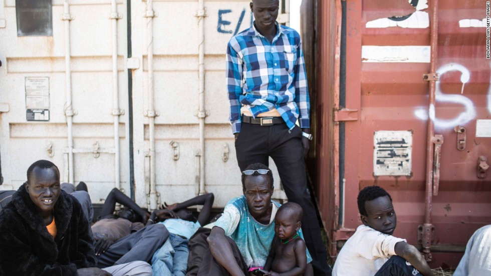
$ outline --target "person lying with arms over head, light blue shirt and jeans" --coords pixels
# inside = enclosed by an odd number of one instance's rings
[[[149,223],[158,222],[167,228],[170,235],[164,244],[153,254],[152,270],[154,275],[184,276],[187,271],[189,238],[201,225],[208,222],[214,195],[207,193],[189,200],[171,205],[165,209],[154,210],[148,219]],[[197,219],[187,207],[202,205]]]

